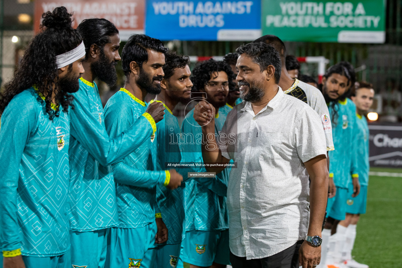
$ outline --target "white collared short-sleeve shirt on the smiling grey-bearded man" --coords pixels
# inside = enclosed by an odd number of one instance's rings
[[[236,105],[218,144],[225,158],[237,162],[227,194],[232,253],[265,258],[304,239],[310,188],[303,163],[326,155],[318,114],[279,88],[257,115],[250,102]]]

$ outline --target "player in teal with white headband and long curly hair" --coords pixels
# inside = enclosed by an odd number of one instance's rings
[[[85,48],[65,7],[42,15],[0,96],[4,268],[70,268],[69,113]]]

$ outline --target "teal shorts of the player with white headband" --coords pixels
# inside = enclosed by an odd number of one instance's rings
[[[26,268],[71,268],[71,254],[70,250],[62,255],[54,257],[32,257],[22,256]],[[3,260],[2,260],[3,261]],[[1,264],[3,267],[3,262]]]

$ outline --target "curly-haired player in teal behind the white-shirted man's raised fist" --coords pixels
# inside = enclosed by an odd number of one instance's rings
[[[191,81],[192,94],[201,94],[215,107],[215,133],[219,134],[227,113],[219,108],[226,105],[226,97],[234,89],[235,75],[230,66],[223,61],[209,59],[202,61],[193,69]],[[205,98],[204,98],[205,99]],[[201,153],[201,127],[193,118],[194,109],[187,113],[182,125],[185,141],[182,144],[183,162],[203,163]],[[191,138],[191,142],[189,139]],[[200,172],[205,172],[202,168]],[[190,267],[226,267],[229,262],[228,210],[226,208],[226,189],[230,168],[217,175],[216,180],[205,178],[198,182],[192,180],[185,188],[185,238],[180,258]],[[215,185],[215,182],[220,182]],[[197,248],[198,247],[198,248]]]

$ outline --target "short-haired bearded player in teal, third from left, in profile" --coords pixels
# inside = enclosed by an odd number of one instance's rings
[[[161,41],[147,35],[131,35],[127,41],[122,53],[124,88],[105,106],[105,125],[111,137],[118,137],[138,118],[144,117],[149,106],[159,104],[164,108],[160,102],[148,106],[144,99],[148,93],[161,92],[166,51]],[[127,266],[130,258],[141,267],[153,267],[151,249],[168,239],[168,230],[156,204],[156,186],[175,189],[183,177],[175,170],[158,169],[158,133],[155,123],[152,127],[152,133],[139,132],[138,139],[145,137],[142,144],[112,166],[117,183],[118,221],[110,234],[111,268]],[[138,174],[144,175],[139,178]]]

